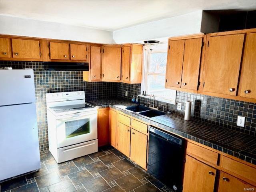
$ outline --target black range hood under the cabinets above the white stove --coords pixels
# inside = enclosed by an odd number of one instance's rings
[[[49,71],[88,71],[89,63],[45,62],[44,69]]]

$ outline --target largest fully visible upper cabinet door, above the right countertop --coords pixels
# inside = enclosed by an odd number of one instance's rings
[[[243,44],[244,34],[209,38],[204,91],[236,96]]]

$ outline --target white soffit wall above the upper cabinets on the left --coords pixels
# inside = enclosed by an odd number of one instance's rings
[[[113,32],[54,22],[0,15],[0,34],[113,43]]]

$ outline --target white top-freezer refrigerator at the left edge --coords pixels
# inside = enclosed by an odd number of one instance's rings
[[[34,72],[0,70],[0,182],[39,168]]]

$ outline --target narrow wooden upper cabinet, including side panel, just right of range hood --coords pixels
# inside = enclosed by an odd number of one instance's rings
[[[83,71],[84,81],[100,81],[102,78],[102,46],[90,45],[89,71]]]

